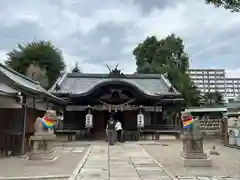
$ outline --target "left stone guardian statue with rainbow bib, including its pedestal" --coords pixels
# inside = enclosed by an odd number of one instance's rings
[[[56,135],[53,126],[57,121],[56,111],[47,110],[42,118],[38,117],[34,123],[35,133],[30,137],[31,151],[28,159],[31,162],[49,163],[58,159],[54,152]]]

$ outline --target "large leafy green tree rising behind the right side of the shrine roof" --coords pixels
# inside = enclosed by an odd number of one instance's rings
[[[138,73],[167,73],[173,86],[183,95],[186,105],[200,103],[200,92],[188,75],[188,55],[183,40],[174,34],[158,40],[147,37],[134,50]]]

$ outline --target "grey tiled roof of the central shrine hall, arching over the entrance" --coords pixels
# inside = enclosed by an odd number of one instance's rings
[[[123,77],[111,78],[108,74],[68,73],[59,78],[50,91],[56,94],[84,94],[102,83],[129,84],[150,96],[179,94],[176,90],[169,92],[171,83],[158,74],[125,74]]]

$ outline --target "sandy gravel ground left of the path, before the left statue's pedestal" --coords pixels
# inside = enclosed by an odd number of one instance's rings
[[[0,159],[0,178],[71,175],[88,147],[88,145],[58,146],[56,154],[59,159],[50,165],[30,165],[26,159],[18,157]]]

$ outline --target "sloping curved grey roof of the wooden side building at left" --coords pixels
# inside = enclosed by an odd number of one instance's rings
[[[39,82],[34,81],[0,63],[0,76],[2,76],[4,82],[10,85],[12,88],[19,90],[20,92],[29,93],[32,95],[43,95],[47,98],[51,98],[54,101],[64,102],[62,99],[54,96],[47,90],[45,90]]]

